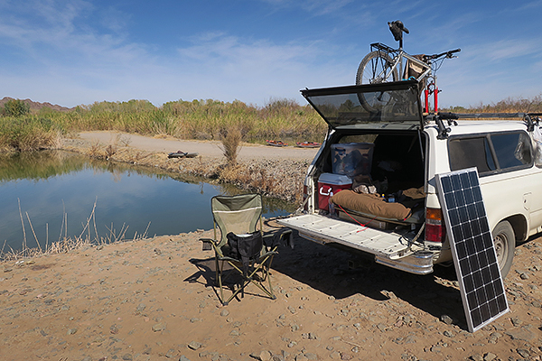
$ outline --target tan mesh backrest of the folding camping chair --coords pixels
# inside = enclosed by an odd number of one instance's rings
[[[226,245],[226,235],[252,233],[257,230],[258,220],[261,222],[262,197],[259,194],[241,194],[238,196],[215,196],[210,199],[210,210],[216,227],[220,228],[219,247]],[[260,224],[261,229],[261,224]]]

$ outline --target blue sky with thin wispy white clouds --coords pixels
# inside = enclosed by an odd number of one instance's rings
[[[515,3],[515,4],[514,4]],[[461,48],[442,106],[542,94],[542,0],[0,0],[1,97],[61,106],[271,99],[350,85],[371,42]]]

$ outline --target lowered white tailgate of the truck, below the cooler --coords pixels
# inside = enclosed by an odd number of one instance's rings
[[[412,233],[403,235],[314,214],[277,219],[277,222],[297,230],[300,236],[321,244],[337,243],[390,259],[412,253],[408,247],[414,238]]]

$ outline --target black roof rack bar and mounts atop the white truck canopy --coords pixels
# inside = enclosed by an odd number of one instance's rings
[[[542,121],[542,113],[442,113],[428,114],[425,116],[425,123],[428,124],[431,121],[435,121],[438,126],[437,139],[445,139],[448,137],[448,133],[452,131],[451,128],[444,125],[444,120],[448,122],[448,125],[457,125],[457,119],[517,119],[520,118],[525,121],[528,132],[532,132],[535,129],[535,124]]]

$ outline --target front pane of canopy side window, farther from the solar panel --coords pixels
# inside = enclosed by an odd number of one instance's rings
[[[531,143],[526,134],[491,134],[491,143],[502,170],[532,162]]]

